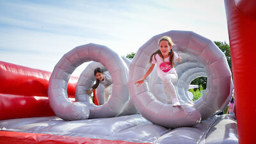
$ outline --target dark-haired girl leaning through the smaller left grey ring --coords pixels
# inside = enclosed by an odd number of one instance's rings
[[[91,95],[93,90],[95,90],[99,84],[103,84],[105,87],[104,90],[104,103],[108,101],[109,96],[112,95],[112,79],[111,76],[104,72],[100,67],[95,68],[94,76],[96,77],[96,83],[92,86],[92,90],[86,90],[88,95]]]

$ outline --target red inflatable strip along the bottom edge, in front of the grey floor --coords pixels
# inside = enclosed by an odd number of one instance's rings
[[[114,141],[114,140],[102,140],[93,138],[82,138],[72,136],[56,136],[51,134],[36,134],[27,132],[10,132],[0,131],[0,143],[51,143],[51,144],[64,144],[64,143],[79,143],[79,144],[92,144],[92,143],[115,143],[115,144],[136,144],[128,141]],[[144,143],[147,144],[147,143]]]

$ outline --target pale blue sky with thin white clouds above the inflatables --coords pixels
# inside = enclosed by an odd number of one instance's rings
[[[0,0],[0,61],[51,72],[78,45],[106,45],[126,56],[170,30],[229,42],[224,2]],[[72,75],[79,76],[84,67]]]

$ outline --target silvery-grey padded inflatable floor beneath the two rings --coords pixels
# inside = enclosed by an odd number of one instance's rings
[[[194,127],[166,129],[141,115],[65,121],[57,116],[0,121],[1,131],[32,132],[135,143],[238,143],[232,115],[215,115]]]

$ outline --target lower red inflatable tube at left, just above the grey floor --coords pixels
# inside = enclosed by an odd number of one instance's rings
[[[27,97],[0,93],[0,120],[55,115],[48,97]]]

